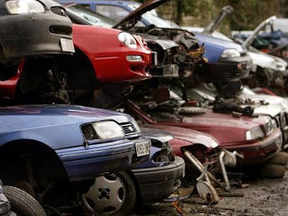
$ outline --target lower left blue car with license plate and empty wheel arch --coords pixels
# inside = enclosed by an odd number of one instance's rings
[[[151,140],[122,113],[69,105],[10,106],[0,108],[0,119],[0,160],[8,165],[0,168],[1,180],[38,193],[49,205],[87,191],[107,171],[131,169],[149,159]]]

